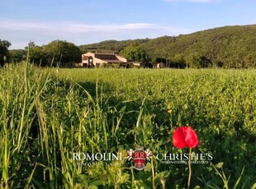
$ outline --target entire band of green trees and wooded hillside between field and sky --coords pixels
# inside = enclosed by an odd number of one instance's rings
[[[73,67],[87,52],[120,53],[129,61],[163,62],[173,68],[256,67],[256,25],[225,26],[190,35],[162,36],[156,39],[107,40],[76,46],[62,40],[25,49],[8,50],[11,43],[0,39],[0,62],[20,62],[29,52],[31,62],[40,66]]]

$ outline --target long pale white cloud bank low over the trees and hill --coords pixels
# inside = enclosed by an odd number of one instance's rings
[[[145,39],[191,32],[192,30],[151,23],[96,25],[70,21],[7,21],[0,19],[0,36],[12,43],[11,48],[24,48],[30,41],[42,45],[55,39],[62,39],[79,45],[107,39]]]

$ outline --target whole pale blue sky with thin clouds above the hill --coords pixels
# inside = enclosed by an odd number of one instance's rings
[[[0,0],[0,39],[24,48],[92,44],[256,24],[255,0]]]

